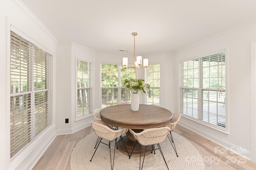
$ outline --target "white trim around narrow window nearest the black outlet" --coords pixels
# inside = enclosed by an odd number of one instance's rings
[[[76,71],[75,71],[75,74],[76,74],[76,88],[75,88],[75,106],[76,106],[76,121],[80,121],[80,120],[82,120],[82,119],[85,119],[85,118],[87,118],[87,117],[90,117],[90,116],[92,116],[92,95],[91,95],[91,104],[90,104],[90,113],[89,114],[87,114],[87,115],[84,115],[84,116],[81,116],[81,117],[77,117],[77,113],[78,113],[78,111],[77,111],[77,61],[84,61],[84,62],[88,62],[88,63],[91,63],[91,66],[90,66],[90,82],[91,82],[91,84],[90,84],[90,86],[92,87],[92,77],[93,77],[93,72],[92,72],[92,66],[93,66],[93,61],[91,61],[91,60],[87,60],[87,59],[83,59],[83,58],[80,58],[80,57],[76,57],[76,62],[75,62],[75,69],[76,69]],[[93,87],[92,87],[93,88]],[[92,89],[92,91],[93,91],[93,89]]]

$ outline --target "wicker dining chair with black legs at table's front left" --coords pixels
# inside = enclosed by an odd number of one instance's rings
[[[110,166],[111,166],[111,170],[113,170],[115,152],[116,152],[116,149],[118,149],[117,143],[120,142],[120,141],[123,141],[123,143],[124,143],[122,135],[128,131],[128,128],[113,129],[111,127],[108,127],[106,125],[102,125],[102,124],[96,123],[96,122],[91,122],[91,125],[92,125],[92,128],[94,129],[94,132],[96,133],[96,135],[98,137],[100,137],[100,141],[98,142],[96,150],[98,149],[100,143],[108,145],[109,152],[110,152]],[[119,138],[119,137],[120,137],[120,139],[119,139],[119,141],[117,141],[117,138]],[[106,139],[108,141],[108,144],[102,142],[102,139]],[[110,144],[111,144],[112,141],[115,141],[113,162],[112,162],[112,158],[111,158],[111,149],[110,149],[111,148]],[[124,147],[126,148],[125,143],[124,143]],[[94,154],[95,154],[96,150],[94,151]],[[127,152],[128,156],[130,156],[127,148],[126,148],[126,152]],[[94,154],[92,155],[92,158],[93,158]],[[92,158],[91,158],[90,161],[92,161]]]

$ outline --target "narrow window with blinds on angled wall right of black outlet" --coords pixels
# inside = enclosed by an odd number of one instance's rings
[[[86,115],[92,112],[91,65],[91,62],[77,59],[77,119],[86,117]]]

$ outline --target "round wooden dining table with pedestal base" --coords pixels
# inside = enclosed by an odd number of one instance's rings
[[[140,104],[138,111],[132,111],[130,104],[119,104],[101,109],[100,117],[109,125],[129,128],[139,133],[143,131],[143,129],[168,125],[172,121],[172,112],[163,107],[146,104]],[[126,133],[123,139],[128,152],[131,152],[136,143],[136,139],[131,135],[130,131]],[[122,142],[118,143],[118,149],[122,153],[126,152]],[[132,156],[139,155],[140,149],[137,145]]]

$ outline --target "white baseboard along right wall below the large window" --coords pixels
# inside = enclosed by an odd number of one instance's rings
[[[225,141],[217,136],[214,136],[214,135],[212,135],[212,133],[208,133],[207,131],[204,131],[202,128],[193,126],[190,123],[187,123],[184,121],[179,121],[179,125],[205,137],[206,139],[209,139],[210,141],[213,141],[214,143],[217,143],[218,145],[238,154],[239,156],[242,156],[242,157],[250,160],[251,152],[242,147],[238,147],[228,141]]]

